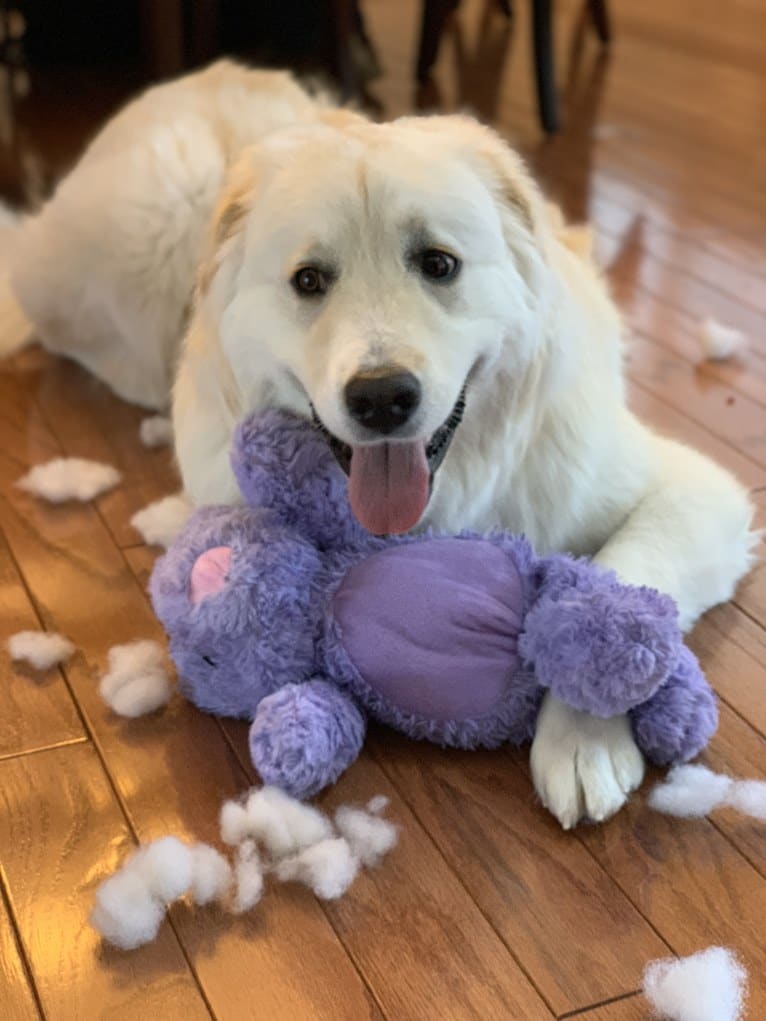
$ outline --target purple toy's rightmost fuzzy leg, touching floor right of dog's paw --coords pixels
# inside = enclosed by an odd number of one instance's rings
[[[713,689],[685,647],[668,680],[629,715],[638,747],[658,766],[693,759],[718,725]]]

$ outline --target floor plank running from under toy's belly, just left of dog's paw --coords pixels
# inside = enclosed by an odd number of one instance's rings
[[[540,817],[529,777],[508,757],[388,731],[373,748],[524,969],[544,976],[540,991],[557,1015],[630,991],[644,962],[667,953],[571,834]]]

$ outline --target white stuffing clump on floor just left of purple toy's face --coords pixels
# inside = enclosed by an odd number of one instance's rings
[[[101,678],[99,691],[118,716],[135,719],[164,706],[172,686],[164,669],[161,645],[150,639],[113,645],[109,670]]]

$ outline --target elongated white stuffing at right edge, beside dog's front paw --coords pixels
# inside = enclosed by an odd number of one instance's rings
[[[705,766],[675,766],[649,804],[666,815],[692,819],[726,805],[746,816],[766,820],[766,781],[737,780]]]

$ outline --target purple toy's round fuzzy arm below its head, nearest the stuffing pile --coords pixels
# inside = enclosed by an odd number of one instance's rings
[[[310,797],[356,759],[366,720],[334,684],[315,678],[287,684],[259,702],[250,755],[264,783]]]

